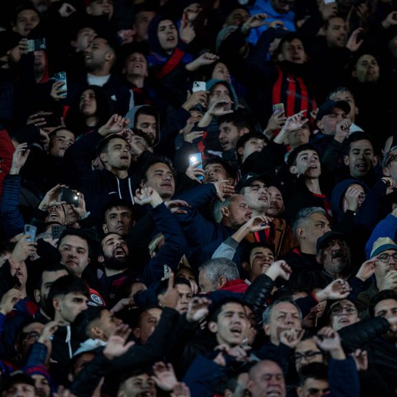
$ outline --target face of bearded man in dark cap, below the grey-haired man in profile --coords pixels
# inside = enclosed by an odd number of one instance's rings
[[[325,242],[320,259],[325,272],[329,274],[343,274],[349,266],[349,251],[347,243],[341,238],[329,238]]]

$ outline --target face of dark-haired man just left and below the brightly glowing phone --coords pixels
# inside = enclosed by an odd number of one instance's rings
[[[156,163],[149,167],[146,172],[147,181],[143,187],[152,187],[160,194],[164,201],[170,200],[175,193],[174,174],[165,163]]]

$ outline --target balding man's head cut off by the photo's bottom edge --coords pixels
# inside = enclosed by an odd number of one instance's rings
[[[283,370],[274,361],[261,361],[250,370],[247,389],[252,397],[285,397],[287,390]]]

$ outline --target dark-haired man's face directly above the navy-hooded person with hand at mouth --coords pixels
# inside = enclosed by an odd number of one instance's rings
[[[345,156],[345,165],[349,165],[350,175],[362,178],[376,165],[376,157],[371,142],[367,139],[350,143],[349,155]]]

